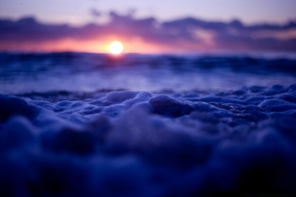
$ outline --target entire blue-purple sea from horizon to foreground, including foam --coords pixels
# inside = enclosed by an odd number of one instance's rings
[[[0,196],[296,194],[296,59],[0,54]]]

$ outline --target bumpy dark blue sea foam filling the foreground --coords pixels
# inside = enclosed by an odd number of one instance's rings
[[[0,95],[0,196],[296,192],[296,84]]]

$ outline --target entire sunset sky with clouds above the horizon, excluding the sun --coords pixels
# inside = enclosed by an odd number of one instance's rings
[[[296,51],[296,0],[0,0],[0,51]]]

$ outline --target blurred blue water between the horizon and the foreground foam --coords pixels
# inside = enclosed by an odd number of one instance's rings
[[[0,54],[0,93],[228,91],[296,82],[296,59],[86,53]]]

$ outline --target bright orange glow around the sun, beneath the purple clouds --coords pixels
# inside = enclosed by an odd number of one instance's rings
[[[178,50],[177,45],[168,46],[151,43],[140,37],[118,37],[114,35],[104,38],[76,40],[61,39],[46,42],[9,42],[0,43],[0,50],[23,51],[23,52],[87,52],[87,53],[110,53],[110,46],[114,40],[124,43],[124,53],[156,54],[170,53]]]

